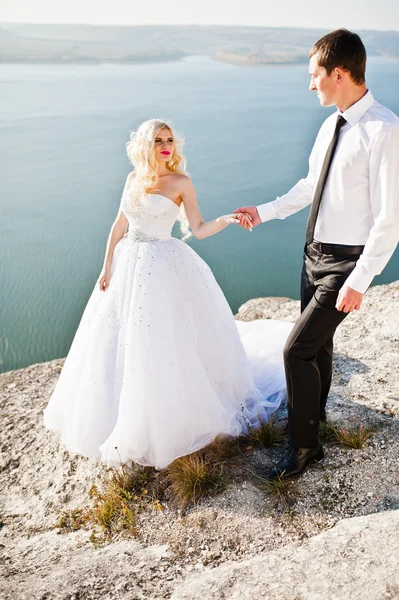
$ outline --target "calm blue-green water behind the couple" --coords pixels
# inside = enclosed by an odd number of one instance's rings
[[[370,59],[374,96],[399,113],[399,61]],[[331,112],[307,66],[240,68],[207,58],[158,65],[0,65],[0,370],[67,354],[99,276],[130,170],[129,131],[171,119],[205,219],[273,200],[307,173]],[[190,242],[233,311],[298,297],[307,210],[252,234]],[[375,283],[399,278],[399,252]]]

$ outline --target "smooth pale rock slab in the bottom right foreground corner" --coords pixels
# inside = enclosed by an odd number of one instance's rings
[[[399,511],[341,521],[289,544],[190,576],[172,600],[399,598]]]

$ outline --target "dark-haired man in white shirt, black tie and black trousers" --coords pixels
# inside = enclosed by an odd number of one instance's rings
[[[324,456],[333,336],[358,310],[399,241],[399,118],[365,83],[366,51],[358,35],[338,29],[309,53],[310,90],[337,112],[322,124],[309,173],[287,194],[245,206],[253,226],[285,219],[312,204],[301,278],[301,316],[284,349],[290,452],[266,475],[289,477]]]

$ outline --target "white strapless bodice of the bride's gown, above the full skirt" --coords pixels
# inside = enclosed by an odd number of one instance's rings
[[[137,242],[169,240],[180,210],[177,204],[162,194],[145,194],[140,207],[141,212],[132,209],[128,192],[123,194],[121,209],[129,221],[125,238]]]

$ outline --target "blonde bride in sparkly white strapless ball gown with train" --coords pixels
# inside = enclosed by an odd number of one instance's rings
[[[127,152],[134,171],[44,425],[71,452],[108,466],[162,469],[278,408],[292,325],[235,321],[210,268],[184,242],[191,232],[203,239],[251,223],[246,215],[204,222],[172,126],[146,121]],[[183,240],[171,235],[176,221]]]

